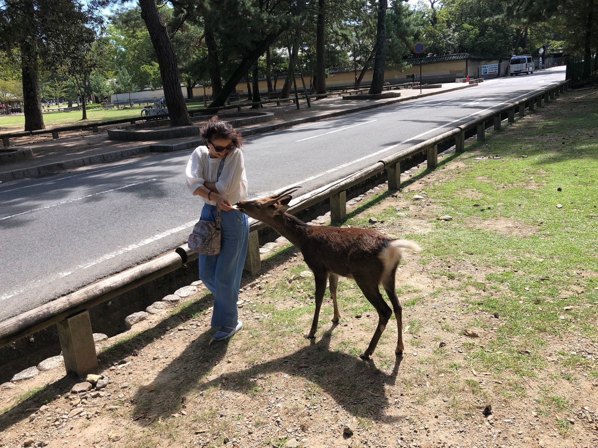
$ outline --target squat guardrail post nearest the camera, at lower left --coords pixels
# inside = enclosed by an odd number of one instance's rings
[[[84,377],[97,369],[96,345],[89,311],[67,317],[56,324],[66,372],[75,372]]]

